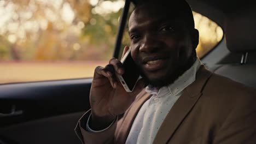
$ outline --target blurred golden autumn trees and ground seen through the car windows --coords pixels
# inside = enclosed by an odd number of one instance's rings
[[[0,0],[0,83],[92,77],[112,57],[124,0]],[[194,13],[199,57],[223,37]],[[124,34],[123,44],[129,45]]]

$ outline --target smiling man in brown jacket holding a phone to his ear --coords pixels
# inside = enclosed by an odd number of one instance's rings
[[[95,69],[91,110],[75,128],[83,143],[256,143],[255,91],[201,64],[187,2],[137,4],[129,35],[143,79],[127,93],[118,59]]]

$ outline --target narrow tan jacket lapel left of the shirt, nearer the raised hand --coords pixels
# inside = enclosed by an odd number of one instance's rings
[[[133,104],[129,107],[129,109],[123,116],[123,122],[121,122],[120,125],[118,125],[118,131],[116,134],[117,139],[115,143],[125,143],[127,136],[129,135],[132,123],[135,117],[137,116],[139,109],[141,109],[144,102],[147,101],[150,98],[150,96],[150,94],[145,92],[145,89],[143,89],[142,92],[139,93]]]

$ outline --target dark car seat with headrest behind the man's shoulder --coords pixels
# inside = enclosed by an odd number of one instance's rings
[[[255,17],[255,8],[227,14],[224,29],[225,42],[230,54],[218,65],[210,68],[216,74],[229,77],[249,87],[256,87]]]

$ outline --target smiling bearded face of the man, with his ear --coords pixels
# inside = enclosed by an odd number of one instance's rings
[[[130,16],[131,55],[153,86],[172,83],[193,64],[198,33],[191,34],[183,19],[154,4],[141,5]]]

